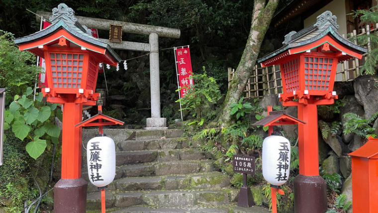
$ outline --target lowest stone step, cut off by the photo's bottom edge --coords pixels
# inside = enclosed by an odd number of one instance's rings
[[[231,205],[218,205],[216,207],[196,205],[189,207],[165,208],[165,207],[146,207],[133,206],[124,209],[110,209],[106,210],[109,213],[270,213],[268,208],[253,206],[250,208],[243,208],[236,206],[236,203]]]

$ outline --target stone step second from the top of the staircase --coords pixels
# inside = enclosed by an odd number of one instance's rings
[[[116,151],[140,151],[189,148],[188,138],[167,138],[151,140],[124,140],[115,142]]]

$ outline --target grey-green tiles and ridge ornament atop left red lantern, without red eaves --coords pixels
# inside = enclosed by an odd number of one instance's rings
[[[75,11],[72,8],[68,7],[64,3],[60,3],[58,7],[54,8],[52,11],[53,15],[49,18],[49,20],[51,21],[50,26],[31,35],[16,38],[14,40],[14,43],[23,44],[32,42],[34,40],[39,40],[63,28],[71,35],[82,41],[85,41],[86,43],[90,43],[106,49],[106,52],[110,56],[112,56],[114,60],[116,60],[117,62],[121,61],[119,56],[114,52],[109,44],[99,41],[98,39],[93,37],[90,33],[90,30],[86,26],[82,26],[79,22],[77,22]]]

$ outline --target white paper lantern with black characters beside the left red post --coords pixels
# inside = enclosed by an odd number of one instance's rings
[[[105,187],[115,176],[115,145],[113,139],[98,134],[88,141],[87,163],[89,180],[96,187]]]

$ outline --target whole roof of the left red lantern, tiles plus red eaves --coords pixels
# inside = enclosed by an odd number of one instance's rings
[[[89,34],[89,31],[87,31],[88,28],[82,26],[77,21],[75,11],[72,8],[64,3],[60,3],[52,11],[53,15],[49,18],[52,22],[50,26],[31,35],[14,40],[14,43],[18,44],[20,50],[28,50],[44,58],[44,45],[53,47],[59,47],[59,45],[81,47],[82,50],[92,52],[100,62],[116,66],[121,61],[109,44]]]

